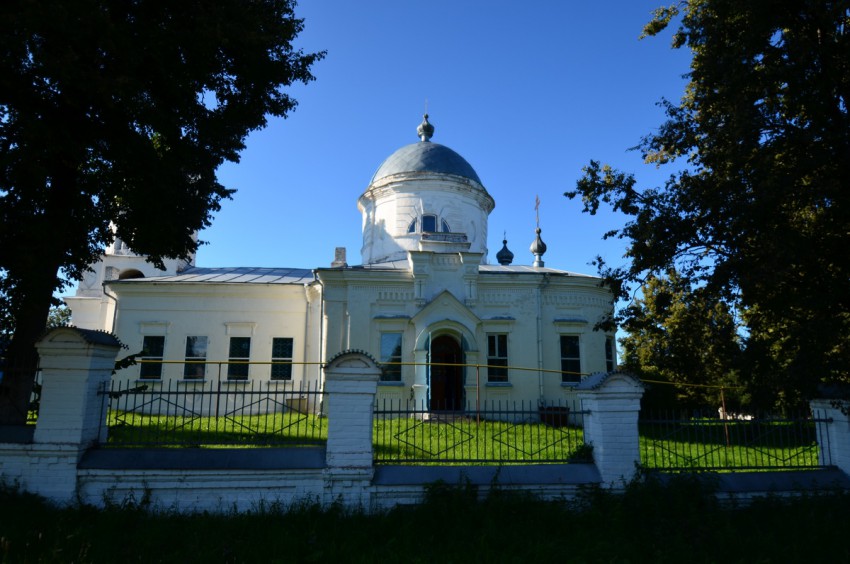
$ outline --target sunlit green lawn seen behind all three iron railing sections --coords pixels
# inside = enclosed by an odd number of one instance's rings
[[[682,470],[813,468],[818,466],[813,425],[642,423],[641,461],[646,468]],[[327,420],[295,411],[217,418],[109,415],[110,446],[311,446],[325,441]],[[466,416],[376,418],[373,444],[379,464],[585,462],[592,456],[579,427]]]

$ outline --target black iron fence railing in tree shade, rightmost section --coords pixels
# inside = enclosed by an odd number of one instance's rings
[[[664,471],[793,470],[832,465],[823,414],[687,418],[642,414],[641,464]]]

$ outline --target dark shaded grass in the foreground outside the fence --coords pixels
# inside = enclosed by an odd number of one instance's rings
[[[377,514],[257,507],[240,514],[139,505],[54,507],[0,488],[0,562],[848,562],[850,498],[719,505],[690,477],[543,502],[463,486]]]

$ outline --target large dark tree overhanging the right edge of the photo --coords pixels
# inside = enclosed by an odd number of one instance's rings
[[[608,236],[630,262],[600,263],[621,296],[677,268],[735,306],[759,395],[798,401],[850,362],[850,2],[689,0],[645,35],[675,18],[689,83],[637,149],[676,170],[638,187],[591,161],[566,195],[629,216]]]

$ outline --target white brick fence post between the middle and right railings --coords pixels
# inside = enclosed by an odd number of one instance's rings
[[[638,414],[643,384],[630,374],[591,374],[578,386],[584,415],[584,440],[604,484],[631,479],[640,463]]]

